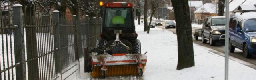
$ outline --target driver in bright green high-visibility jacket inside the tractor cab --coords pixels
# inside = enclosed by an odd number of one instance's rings
[[[122,15],[122,11],[117,10],[116,15],[112,18],[112,24],[124,24],[125,19],[121,15]]]

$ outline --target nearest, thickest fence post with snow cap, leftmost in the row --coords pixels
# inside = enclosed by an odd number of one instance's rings
[[[22,16],[22,5],[15,4],[13,7],[13,24],[18,28],[14,28],[14,54],[16,66],[16,79],[26,80],[26,59],[24,45],[24,26]]]

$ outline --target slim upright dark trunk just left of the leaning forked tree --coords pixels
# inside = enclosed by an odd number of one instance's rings
[[[148,0],[145,0],[144,2],[144,31],[148,30],[148,19],[147,19],[147,13],[148,13]]]

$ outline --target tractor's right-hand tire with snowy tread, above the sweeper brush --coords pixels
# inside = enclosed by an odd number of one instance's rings
[[[134,44],[132,45],[132,53],[133,54],[141,54],[141,44],[140,44],[140,40],[136,39],[134,41]]]

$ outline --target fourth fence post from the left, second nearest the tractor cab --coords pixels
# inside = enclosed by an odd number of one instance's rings
[[[86,47],[88,48],[88,47],[91,47],[90,46],[90,23],[89,23],[89,16],[88,15],[86,15],[85,16],[85,24],[86,24]]]

